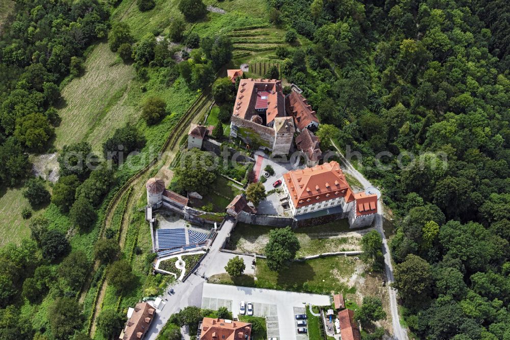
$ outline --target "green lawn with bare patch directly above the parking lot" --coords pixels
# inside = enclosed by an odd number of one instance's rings
[[[354,260],[349,257],[330,256],[292,262],[288,269],[273,272],[266,260],[257,259],[256,285],[259,288],[316,294],[346,292],[349,287],[344,282],[354,273],[354,266]]]

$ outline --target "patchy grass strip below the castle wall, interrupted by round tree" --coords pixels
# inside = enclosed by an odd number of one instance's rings
[[[241,252],[264,253],[269,240],[270,226],[257,226],[238,223],[232,233],[230,249]],[[297,256],[310,256],[329,252],[359,250],[359,236],[342,233],[349,232],[347,220],[339,220],[324,225],[303,227],[295,230],[301,248]]]

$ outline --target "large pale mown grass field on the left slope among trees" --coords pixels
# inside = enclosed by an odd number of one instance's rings
[[[66,104],[59,110],[62,122],[55,130],[57,149],[81,140],[96,147],[127,120],[138,120],[137,110],[125,105],[134,69],[113,63],[116,59],[107,43],[97,44],[85,62],[85,74],[62,90]]]

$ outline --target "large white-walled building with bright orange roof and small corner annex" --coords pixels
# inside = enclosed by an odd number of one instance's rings
[[[335,162],[285,173],[284,193],[293,216],[340,207],[349,211],[351,228],[370,225],[377,213],[377,195],[354,194]]]

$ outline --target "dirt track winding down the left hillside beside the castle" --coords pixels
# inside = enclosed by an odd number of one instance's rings
[[[201,96],[197,99],[197,101],[191,106],[191,108],[183,115],[179,123],[172,129],[172,132],[168,136],[168,139],[162,150],[162,157],[159,160],[152,162],[149,166],[142,169],[137,175],[135,175],[132,179],[128,180],[126,184],[122,186],[122,188],[116,193],[114,198],[112,199],[113,203],[110,204],[108,211],[106,212],[105,217],[105,225],[108,226],[112,218],[114,216],[115,209],[118,204],[121,202],[121,198],[130,187],[133,187],[133,191],[131,195],[127,199],[126,208],[124,210],[124,215],[122,216],[122,222],[120,224],[120,240],[119,246],[121,249],[124,248],[125,239],[127,235],[127,231],[129,229],[129,225],[131,222],[131,213],[138,202],[138,199],[141,195],[145,193],[145,182],[151,174],[152,169],[158,168],[159,172],[165,171],[168,168],[173,158],[179,151],[179,141],[182,136],[188,133],[189,125],[194,122],[198,122],[202,117],[202,113],[209,110],[214,104],[211,96]],[[105,297],[106,289],[108,287],[108,281],[105,280],[103,285],[100,287],[100,293],[97,298],[96,305],[94,306],[93,313],[94,317],[92,319],[92,324],[90,328],[90,336],[93,337],[96,330],[96,321],[101,308],[103,307],[103,299]],[[86,292],[85,292],[86,294]]]

